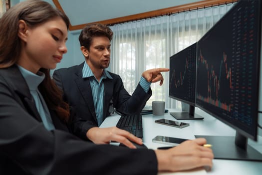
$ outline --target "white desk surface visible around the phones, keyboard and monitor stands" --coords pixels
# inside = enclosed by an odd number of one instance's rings
[[[169,109],[169,112],[181,111],[179,109]],[[168,146],[165,144],[154,143],[152,138],[156,135],[179,137],[186,139],[194,139],[194,135],[225,135],[235,136],[236,130],[224,124],[220,120],[207,114],[206,112],[196,108],[196,113],[201,114],[205,118],[203,120],[178,120],[190,123],[190,126],[184,128],[176,128],[163,124],[155,123],[156,119],[165,118],[177,120],[170,113],[164,116],[153,116],[152,114],[142,115],[143,123],[143,141],[149,148],[157,148],[160,146]],[[108,116],[100,127],[115,126],[120,116],[115,114]],[[262,136],[258,136],[258,142],[249,139],[249,144],[262,153]],[[213,168],[207,174],[220,175],[256,175],[262,174],[262,161],[244,161],[244,160],[224,160],[214,159]]]

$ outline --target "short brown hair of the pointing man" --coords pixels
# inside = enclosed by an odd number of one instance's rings
[[[89,50],[93,36],[106,36],[111,41],[113,31],[101,23],[87,24],[78,37],[80,45]]]

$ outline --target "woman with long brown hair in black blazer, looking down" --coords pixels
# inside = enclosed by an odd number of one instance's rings
[[[69,20],[41,0],[0,18],[0,174],[156,174],[212,166],[203,138],[168,150],[97,145],[68,133],[68,105],[50,78]],[[128,158],[127,158],[128,157]]]

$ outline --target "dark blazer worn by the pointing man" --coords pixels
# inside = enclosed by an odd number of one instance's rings
[[[69,68],[60,68],[54,71],[53,78],[63,90],[63,98],[69,103],[72,118],[72,130],[77,136],[86,139],[89,128],[97,126],[97,119],[89,78],[82,77],[84,62]],[[109,72],[113,79],[104,81],[103,120],[109,116],[110,101],[121,113],[140,113],[146,101],[152,95],[151,88],[148,93],[137,85],[132,96],[126,91],[121,77]]]

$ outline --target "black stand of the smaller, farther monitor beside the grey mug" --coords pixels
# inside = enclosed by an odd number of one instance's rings
[[[195,114],[195,106],[189,105],[189,112],[169,112],[176,119],[204,119],[203,116]]]

